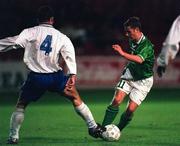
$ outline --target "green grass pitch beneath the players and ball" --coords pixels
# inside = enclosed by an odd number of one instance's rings
[[[112,90],[80,91],[97,122],[101,122]],[[16,103],[14,93],[0,94],[0,146],[5,146],[9,119]],[[126,102],[120,107],[120,114]],[[19,146],[180,146],[180,89],[153,89],[124,129],[118,142],[93,139],[72,105],[47,93],[26,110]]]

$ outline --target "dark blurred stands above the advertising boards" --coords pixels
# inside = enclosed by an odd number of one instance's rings
[[[179,0],[1,0],[0,38],[37,25],[36,11],[50,5],[55,27],[71,38],[77,55],[114,55],[113,43],[127,46],[123,23],[140,17],[143,32],[158,55],[173,20],[180,14]],[[1,54],[1,60],[19,59],[23,51]],[[9,57],[8,57],[9,56]]]

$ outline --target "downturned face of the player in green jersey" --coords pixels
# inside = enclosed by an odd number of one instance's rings
[[[125,35],[129,39],[136,40],[137,39],[137,33],[138,33],[137,28],[131,28],[130,26],[125,27]]]

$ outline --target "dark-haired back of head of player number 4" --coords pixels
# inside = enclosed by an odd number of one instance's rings
[[[54,16],[54,11],[49,6],[41,6],[38,9],[37,18],[39,22],[48,21],[53,16]]]

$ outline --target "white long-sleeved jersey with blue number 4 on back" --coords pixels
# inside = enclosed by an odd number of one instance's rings
[[[8,40],[10,41],[8,42]],[[24,62],[31,71],[52,73],[62,70],[60,67],[60,57],[62,56],[66,62],[68,73],[76,74],[77,72],[73,44],[66,35],[51,25],[41,24],[24,29],[18,37],[0,40],[0,51],[3,51],[3,47],[5,49],[5,45],[14,44],[25,48]]]

